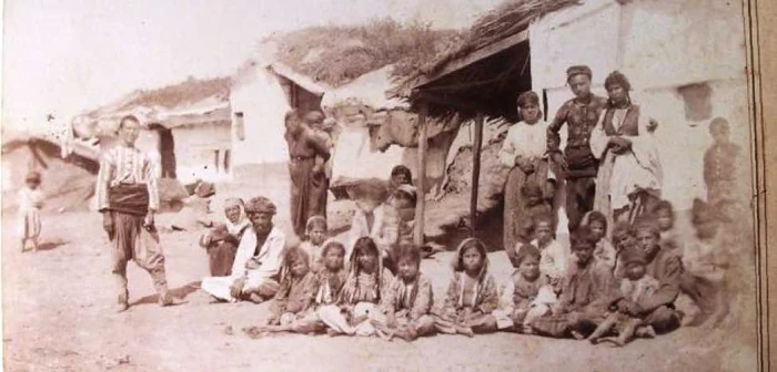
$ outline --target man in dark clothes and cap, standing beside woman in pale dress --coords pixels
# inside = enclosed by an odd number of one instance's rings
[[[594,208],[597,162],[591,152],[591,133],[607,104],[605,97],[591,92],[591,69],[574,65],[566,70],[566,82],[575,97],[565,102],[547,127],[547,151],[566,180],[566,216],[569,232],[579,226],[583,216]],[[567,124],[564,153],[559,151],[558,132]]]

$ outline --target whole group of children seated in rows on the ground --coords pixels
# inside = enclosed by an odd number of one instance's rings
[[[421,271],[416,247],[396,246],[390,269],[373,238],[359,238],[349,252],[340,241],[326,239],[323,217],[312,217],[307,240],[284,251],[270,318],[244,331],[254,338],[296,332],[407,341],[437,332],[472,337],[508,331],[614,345],[656,335],[649,311],[637,309],[670,285],[652,275],[656,252],[682,257],[670,204],[662,203],[634,225],[616,226],[613,244],[604,215],[589,213],[573,235],[571,250],[554,239],[552,215],[534,216],[531,225],[534,239],[508,251],[515,271],[498,280],[485,245],[476,238],[462,241],[445,299],[435,307],[432,278]],[[693,277],[684,281],[692,292]],[[670,318],[679,327],[683,313],[674,311]]]

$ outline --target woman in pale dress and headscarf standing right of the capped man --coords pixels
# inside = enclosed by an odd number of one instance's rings
[[[634,223],[660,202],[663,170],[653,122],[632,102],[632,85],[615,71],[605,80],[609,101],[591,134],[591,149],[599,159],[594,210],[608,225]]]

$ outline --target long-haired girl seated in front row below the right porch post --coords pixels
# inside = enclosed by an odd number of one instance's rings
[[[498,306],[498,292],[483,241],[464,239],[456,249],[452,269],[445,303],[435,311],[437,331],[468,337],[495,332],[496,318],[492,312]]]

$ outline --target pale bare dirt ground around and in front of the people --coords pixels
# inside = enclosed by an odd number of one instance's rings
[[[269,187],[264,189],[264,187]],[[287,185],[232,189],[239,196],[283,197]],[[222,189],[224,192],[224,189]],[[287,195],[287,194],[286,194]],[[280,226],[287,207],[279,203]],[[261,322],[269,304],[209,303],[198,290],[208,273],[196,246],[201,231],[164,232],[168,279],[188,303],[159,308],[148,275],[129,268],[131,308],[113,313],[109,245],[100,216],[89,211],[47,213],[43,249],[21,254],[13,215],[3,215],[3,361],[7,371],[751,371],[756,368],[755,324],[725,330],[682,328],[623,349],[585,341],[500,333],[467,339],[436,335],[386,342],[329,335],[250,339],[241,329]],[[161,215],[159,224],[180,218]],[[504,252],[491,254],[497,278],[509,267]],[[451,254],[424,260],[442,301]],[[755,306],[755,301],[753,301]],[[680,299],[693,316],[687,299]],[[738,332],[733,330],[739,329]]]

